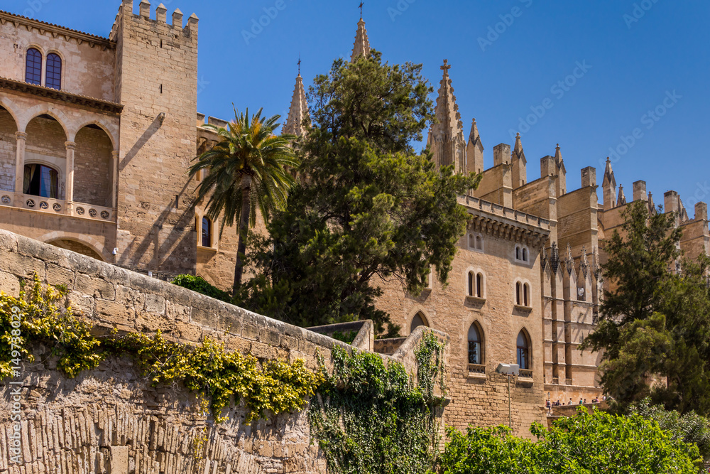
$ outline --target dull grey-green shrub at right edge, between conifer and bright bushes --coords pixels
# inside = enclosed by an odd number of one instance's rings
[[[704,460],[710,459],[710,421],[704,416],[694,411],[679,414],[674,410],[666,410],[663,406],[650,404],[648,398],[631,405],[630,413],[657,421],[661,429],[670,433],[672,439],[695,443]]]

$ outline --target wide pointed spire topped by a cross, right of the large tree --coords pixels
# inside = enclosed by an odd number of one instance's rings
[[[459,106],[449,78],[449,61],[444,59],[444,77],[439,87],[435,115],[437,123],[429,129],[427,146],[434,153],[437,166],[454,165],[454,172],[466,172],[466,140]]]

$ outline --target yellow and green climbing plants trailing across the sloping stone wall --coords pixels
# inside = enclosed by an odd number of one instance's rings
[[[324,361],[308,370],[302,360],[258,361],[226,352],[205,339],[193,346],[153,335],[92,335],[92,326],[72,312],[67,289],[43,289],[35,275],[15,298],[0,293],[0,379],[22,361],[34,361],[33,345],[50,348],[57,367],[73,378],[107,357],[128,356],[153,384],[180,382],[202,396],[217,422],[231,402],[244,403],[245,423],[304,409],[310,399],[311,434],[327,459],[328,472],[428,473],[435,469],[440,440],[437,410],[444,402],[444,343],[425,333],[415,351],[417,375],[377,354],[336,346],[333,371]],[[13,316],[13,315],[20,315]],[[437,391],[438,389],[438,391]],[[201,451],[204,440],[193,444]]]

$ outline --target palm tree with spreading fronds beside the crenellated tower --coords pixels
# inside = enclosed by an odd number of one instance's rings
[[[291,141],[293,135],[276,136],[273,131],[280,124],[279,115],[266,119],[261,117],[262,109],[249,118],[249,109],[241,114],[234,109],[234,122],[229,129],[206,125],[217,132],[220,141],[197,156],[190,166],[190,178],[200,170],[207,170],[207,176],[197,187],[195,205],[207,198],[207,215],[214,222],[223,215],[219,235],[224,226],[232,226],[239,221],[239,245],[234,268],[233,295],[241,285],[246,252],[246,236],[249,226],[256,223],[256,209],[264,220],[271,213],[282,208],[288,190],[294,183],[285,167],[295,168],[297,159]]]

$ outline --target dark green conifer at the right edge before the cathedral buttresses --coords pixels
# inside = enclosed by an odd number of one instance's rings
[[[672,214],[651,215],[639,202],[623,216],[621,234],[605,244],[611,291],[581,348],[603,350],[601,382],[618,410],[650,397],[681,413],[710,414],[708,259],[681,259]]]

